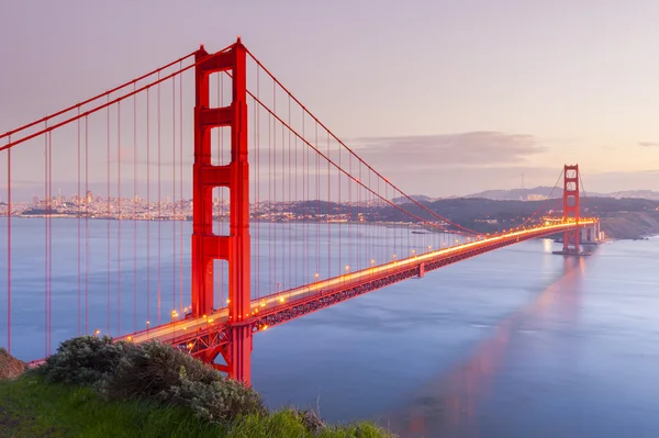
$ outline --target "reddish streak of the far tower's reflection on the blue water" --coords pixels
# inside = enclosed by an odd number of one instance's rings
[[[551,251],[551,240],[545,240],[545,250]],[[492,336],[480,342],[473,353],[448,373],[424,384],[413,394],[414,405],[407,412],[389,415],[388,425],[405,437],[487,436],[479,427],[478,404],[491,392],[492,379],[505,356],[513,332],[534,333],[534,322],[555,307],[563,322],[579,317],[579,283],[585,274],[584,259],[566,258],[563,272],[537,297],[503,318],[490,332]],[[563,293],[562,291],[569,291]]]

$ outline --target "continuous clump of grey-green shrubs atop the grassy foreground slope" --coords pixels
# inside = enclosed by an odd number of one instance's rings
[[[93,386],[113,398],[156,400],[225,423],[241,415],[266,415],[254,390],[168,345],[133,345],[82,336],[62,342],[40,368],[47,382]]]

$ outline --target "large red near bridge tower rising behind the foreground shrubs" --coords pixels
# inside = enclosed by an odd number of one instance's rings
[[[215,308],[214,260],[228,262],[228,345],[202,359],[213,363],[222,355],[226,366],[214,364],[230,378],[250,383],[252,332],[239,323],[250,308],[249,285],[249,165],[247,161],[246,49],[238,37],[230,48],[196,54],[194,165],[192,168],[192,316],[210,315]],[[231,70],[232,102],[210,108],[211,74]],[[211,131],[231,128],[231,161],[211,164]],[[213,189],[230,190],[230,234],[213,233]]]

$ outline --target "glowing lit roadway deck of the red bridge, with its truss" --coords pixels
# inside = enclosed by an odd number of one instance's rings
[[[579,225],[588,226],[594,223],[595,220],[581,220]],[[443,266],[518,242],[561,233],[573,226],[576,226],[573,222],[554,223],[505,234],[496,234],[479,238],[471,243],[420,254],[401,260],[393,260],[384,265],[327,280],[320,280],[311,284],[254,300],[252,302],[252,314],[245,315],[244,319],[237,325],[250,325],[253,332],[264,330],[272,325],[294,319],[386,285],[412,277],[423,277],[425,272]],[[134,342],[157,339],[163,342],[175,344],[182,349],[189,350],[194,356],[201,356],[227,341],[230,329],[227,323],[228,310],[224,307],[202,317],[190,317],[190,315],[187,315],[183,319],[142,330],[121,337],[120,339],[127,339]]]

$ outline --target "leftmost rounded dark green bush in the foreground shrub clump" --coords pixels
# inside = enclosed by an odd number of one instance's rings
[[[63,382],[83,386],[103,385],[113,375],[122,358],[136,347],[111,337],[81,336],[65,340],[57,352],[40,368],[46,382]]]

